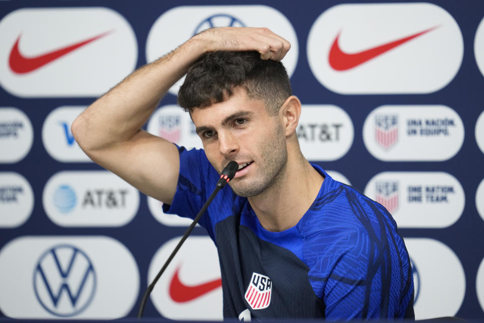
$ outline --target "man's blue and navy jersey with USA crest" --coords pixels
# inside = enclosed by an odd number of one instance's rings
[[[176,193],[163,207],[193,219],[219,175],[203,150],[178,150]],[[414,318],[410,261],[390,213],[313,167],[323,184],[290,229],[265,230],[228,185],[201,218],[218,250],[224,317]]]

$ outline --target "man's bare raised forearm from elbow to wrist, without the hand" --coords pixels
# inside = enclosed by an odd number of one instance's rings
[[[84,150],[102,149],[130,140],[148,120],[168,89],[204,52],[190,39],[166,56],[147,64],[98,98],[73,123],[73,134]]]

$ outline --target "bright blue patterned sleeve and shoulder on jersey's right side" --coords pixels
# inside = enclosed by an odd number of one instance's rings
[[[322,208],[324,229],[306,252],[326,319],[407,316],[413,280],[395,222],[380,204],[351,188],[340,186],[331,194],[332,206]]]

